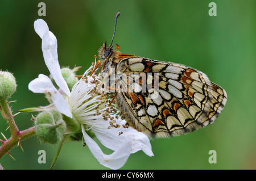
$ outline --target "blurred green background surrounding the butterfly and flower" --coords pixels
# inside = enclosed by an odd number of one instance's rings
[[[253,0],[181,1],[44,1],[46,16],[39,16],[41,1],[0,2],[0,69],[14,73],[17,91],[10,100],[14,110],[46,106],[43,94],[28,90],[44,64],[42,40],[34,21],[44,19],[58,41],[61,66],[89,68],[94,54],[110,43],[114,18],[121,12],[114,43],[122,53],[171,61],[203,71],[223,87],[228,101],[212,125],[174,138],[151,140],[154,157],[142,151],[131,154],[122,169],[256,169],[256,2]],[[217,16],[209,16],[210,2]],[[32,126],[31,113],[15,117],[20,130]],[[0,117],[0,132],[10,137]],[[2,136],[0,136],[1,139]],[[22,142],[1,158],[5,169],[49,169],[57,146],[41,144],[36,137]],[[46,164],[38,151],[46,150]],[[217,163],[210,164],[209,150]],[[53,169],[107,169],[82,143],[65,144]]]

